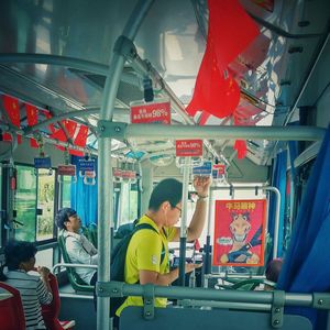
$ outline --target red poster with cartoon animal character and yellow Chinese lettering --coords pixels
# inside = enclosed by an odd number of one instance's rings
[[[266,200],[217,200],[213,265],[263,266]]]

